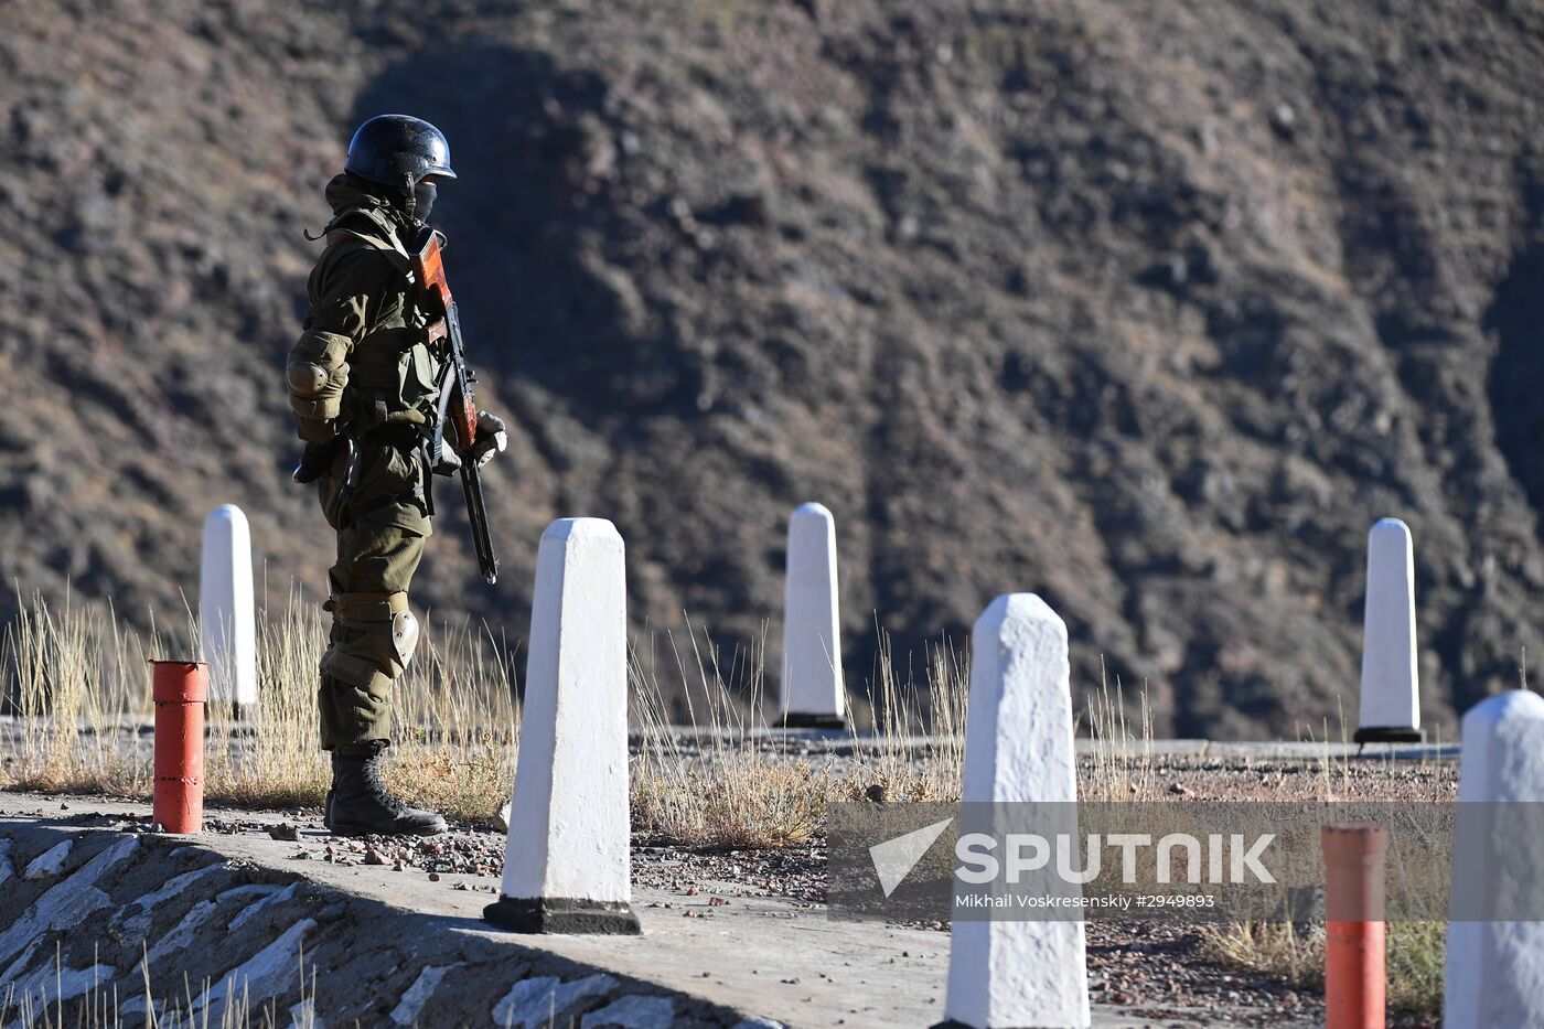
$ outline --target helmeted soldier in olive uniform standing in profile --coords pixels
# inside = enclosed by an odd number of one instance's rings
[[[338,533],[317,703],[332,752],[326,825],[340,834],[445,831],[438,814],[388,793],[380,759],[391,746],[391,686],[418,641],[408,586],[429,536],[429,476],[459,464],[445,448],[442,467],[428,467],[442,355],[409,256],[437,184],[454,178],[445,134],[425,121],[381,114],[354,133],[343,175],[327,184],[334,218],[286,369],[306,440],[295,481],[318,484]],[[477,430],[468,459],[485,464],[505,448],[505,425],[483,411]]]

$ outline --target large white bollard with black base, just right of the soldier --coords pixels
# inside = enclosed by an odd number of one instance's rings
[[[602,518],[542,533],[503,890],[523,933],[636,933],[628,878],[627,586]]]

